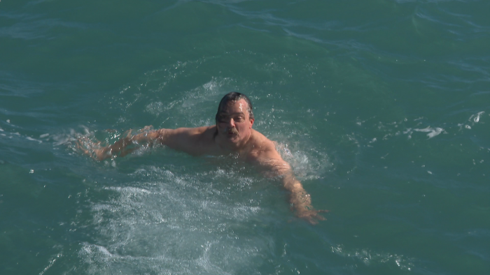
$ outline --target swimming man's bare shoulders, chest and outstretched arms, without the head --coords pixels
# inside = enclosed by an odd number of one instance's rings
[[[146,129],[148,127],[144,130]],[[290,165],[283,161],[276,151],[274,142],[258,131],[250,130],[241,139],[243,140],[241,143],[227,143],[225,140],[226,135],[224,137],[223,134],[217,135],[216,126],[142,131],[142,133],[137,135],[128,135],[108,147],[98,149],[85,148],[83,150],[85,154],[89,155],[92,155],[93,152],[94,158],[99,161],[114,156],[125,156],[125,154],[129,154],[132,151],[132,149],[126,149],[128,145],[142,144],[144,142],[150,144],[160,143],[194,156],[238,154],[239,159],[252,163],[265,174],[281,178],[283,187],[290,191],[289,202],[294,206],[297,216],[304,218],[310,223],[317,223],[318,220],[325,219],[319,215],[321,211],[311,206],[309,194],[304,191],[300,181],[297,181],[294,177]]]

